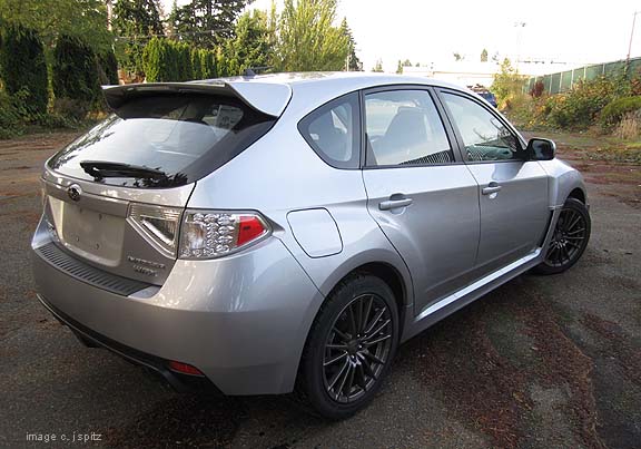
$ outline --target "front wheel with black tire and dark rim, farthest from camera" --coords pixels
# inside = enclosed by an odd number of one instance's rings
[[[568,198],[545,254],[545,260],[534,269],[538,274],[563,273],[583,255],[590,241],[591,222],[588,208],[575,198]]]

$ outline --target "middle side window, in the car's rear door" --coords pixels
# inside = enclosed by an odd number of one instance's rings
[[[425,90],[368,94],[365,120],[369,166],[454,160],[441,117]]]

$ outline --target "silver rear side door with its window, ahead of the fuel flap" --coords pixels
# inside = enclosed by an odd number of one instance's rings
[[[477,185],[428,88],[365,91],[364,121],[367,207],[412,273],[420,313],[470,281]]]

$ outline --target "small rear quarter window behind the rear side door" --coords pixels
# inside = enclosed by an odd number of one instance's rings
[[[358,168],[358,95],[339,97],[306,116],[298,130],[316,154],[336,168]]]

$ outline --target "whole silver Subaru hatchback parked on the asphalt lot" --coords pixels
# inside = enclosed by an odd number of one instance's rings
[[[179,390],[297,392],[341,419],[398,344],[590,237],[581,175],[477,95],[284,74],[108,87],[51,157],[42,304]]]

